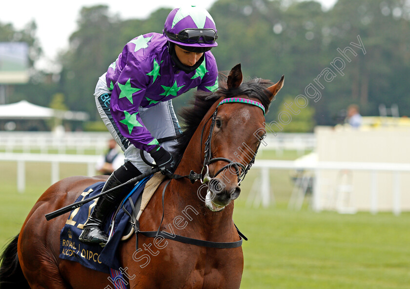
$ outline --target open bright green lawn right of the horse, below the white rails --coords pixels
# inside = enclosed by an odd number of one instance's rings
[[[241,288],[407,289],[409,217],[236,206],[249,239]]]

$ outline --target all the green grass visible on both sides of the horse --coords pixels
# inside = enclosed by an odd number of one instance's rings
[[[265,154],[266,153],[266,154]],[[264,152],[269,157],[274,152]],[[293,159],[296,152],[276,158]],[[85,166],[64,165],[62,177],[85,174]],[[235,201],[234,221],[244,241],[243,289],[407,289],[410,284],[410,213],[299,212],[287,210],[289,171],[271,171],[275,205],[247,206],[258,176],[246,176]],[[50,185],[50,165],[27,164],[27,190],[17,193],[16,164],[0,166],[0,246],[15,236],[40,194]],[[257,181],[257,180],[256,180]]]

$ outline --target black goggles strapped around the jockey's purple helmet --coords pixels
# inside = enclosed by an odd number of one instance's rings
[[[173,34],[165,31],[165,34],[172,40],[183,43],[208,43],[212,44],[218,39],[215,30],[212,28],[197,29],[188,28],[182,30],[179,34]],[[201,39],[202,37],[202,39]],[[201,39],[201,40],[200,40]]]

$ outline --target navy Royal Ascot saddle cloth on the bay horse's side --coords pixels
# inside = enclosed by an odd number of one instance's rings
[[[138,197],[143,193],[145,184],[151,176],[138,182],[134,189],[124,198],[121,206],[124,206],[127,212],[132,212],[132,209],[130,203],[125,200],[127,200],[128,197],[131,197],[135,204]],[[87,187],[76,202],[101,193],[104,184],[105,182],[98,182]],[[81,234],[83,224],[92,212],[95,204],[96,199],[71,211],[70,216],[60,233],[60,258],[79,262],[83,266],[93,270],[109,273],[110,268],[115,270],[120,269],[117,247],[121,241],[123,232],[129,223],[129,216],[123,210],[119,210],[115,216],[114,228],[109,228],[110,222],[106,222],[104,230],[106,232],[109,232],[108,230],[113,230],[113,234],[104,248],[100,245],[84,244],[78,240],[78,237]],[[136,210],[139,211],[139,208]],[[112,214],[113,213],[114,212],[112,212]]]

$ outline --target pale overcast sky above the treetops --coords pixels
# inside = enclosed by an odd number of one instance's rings
[[[105,4],[109,11],[119,14],[122,19],[143,19],[160,7],[175,8],[195,4],[208,9],[216,0],[2,0],[0,22],[13,23],[21,29],[34,19],[37,23],[37,37],[40,39],[45,58],[38,64],[40,68],[49,67],[59,51],[68,47],[68,38],[77,28],[77,18],[83,6]],[[325,8],[336,0],[318,0]],[[172,2],[172,4],[170,4]],[[165,20],[165,19],[164,19]],[[218,24],[218,23],[217,23]],[[137,35],[136,35],[137,36]]]

